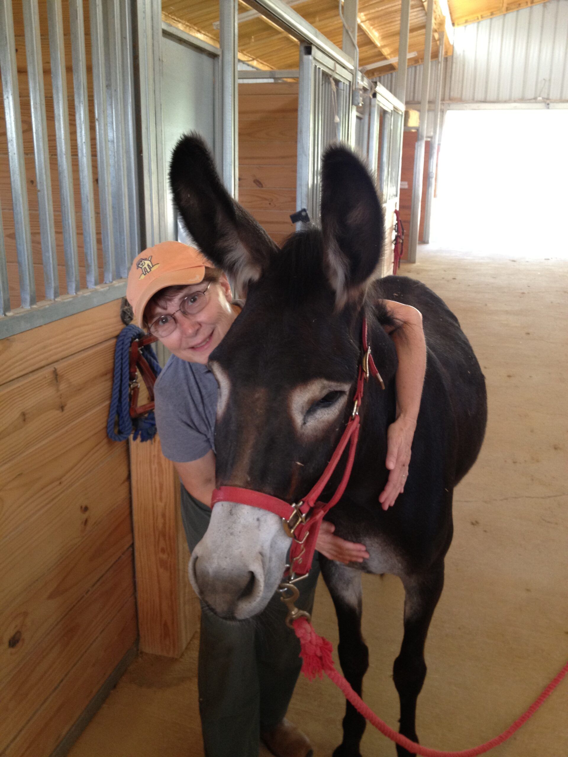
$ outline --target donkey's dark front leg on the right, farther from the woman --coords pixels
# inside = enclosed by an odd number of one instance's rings
[[[395,659],[394,681],[401,699],[401,734],[418,741],[416,734],[416,703],[426,678],[424,644],[435,606],[444,586],[443,559],[429,571],[402,576],[404,584],[404,637],[401,652]],[[410,752],[397,745],[398,757]]]

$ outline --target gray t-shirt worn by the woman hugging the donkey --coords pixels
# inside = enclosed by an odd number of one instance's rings
[[[217,381],[207,366],[172,355],[154,394],[156,425],[168,459],[189,463],[215,451]]]

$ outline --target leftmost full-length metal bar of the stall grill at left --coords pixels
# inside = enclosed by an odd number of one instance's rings
[[[14,207],[17,267],[20,275],[20,301],[22,307],[30,307],[36,304],[36,283],[33,278],[30,213],[27,205],[26,166],[23,160],[20,91],[17,85],[16,44],[11,0],[0,0],[0,69],[2,69],[2,92],[8,138],[12,206]]]

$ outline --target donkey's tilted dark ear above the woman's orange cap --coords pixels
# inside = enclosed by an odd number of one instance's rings
[[[179,214],[201,252],[242,289],[267,269],[278,248],[247,211],[230,197],[213,157],[195,132],[173,150],[170,186]]]

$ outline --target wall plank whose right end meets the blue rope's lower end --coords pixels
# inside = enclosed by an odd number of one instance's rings
[[[107,416],[108,403],[0,468],[0,540],[38,518],[117,450],[121,443],[108,438]]]

